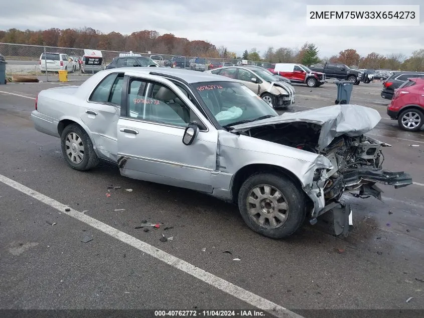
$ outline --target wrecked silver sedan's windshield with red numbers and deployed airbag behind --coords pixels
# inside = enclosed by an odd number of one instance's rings
[[[201,82],[192,87],[221,126],[278,116],[270,105],[241,83]]]

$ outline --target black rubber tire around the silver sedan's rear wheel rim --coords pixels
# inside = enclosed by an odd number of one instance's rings
[[[71,158],[69,158],[66,151],[67,150],[66,139],[68,135],[71,133],[78,135],[79,140],[81,140],[82,142],[83,158],[82,158],[82,161],[79,163],[72,161]],[[61,139],[62,154],[72,169],[84,171],[84,170],[89,170],[91,168],[94,168],[95,166],[98,165],[99,159],[96,153],[94,152],[93,143],[91,142],[91,139],[86,133],[86,131],[82,129],[81,126],[77,124],[71,124],[66,126],[62,132],[62,136],[60,139]]]

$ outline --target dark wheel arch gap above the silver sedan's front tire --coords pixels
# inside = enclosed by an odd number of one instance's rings
[[[234,203],[237,203],[238,200],[238,191],[240,190],[241,185],[243,182],[250,177],[251,175],[258,173],[258,172],[270,172],[275,173],[275,171],[283,176],[286,176],[290,178],[293,182],[295,182],[296,185],[298,185],[301,189],[303,189],[302,182],[299,180],[299,178],[296,176],[295,173],[290,171],[289,169],[272,165],[272,164],[263,164],[263,163],[254,163],[254,164],[248,164],[242,168],[240,168],[233,176],[232,182],[231,182],[231,198]],[[306,195],[305,197],[311,201],[312,200]]]

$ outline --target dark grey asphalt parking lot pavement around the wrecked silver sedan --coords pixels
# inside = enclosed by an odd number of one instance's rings
[[[40,90],[69,84],[0,85],[0,308],[275,305],[279,316],[423,315],[424,134],[401,131],[387,117],[381,83],[354,86],[351,103],[380,113],[369,135],[393,146],[384,148],[383,166],[415,183],[382,185],[382,201],[344,195],[354,223],[346,239],[332,235],[324,215],[286,240],[252,232],[236,206],[195,191],[125,178],[108,163],[69,168],[60,140],[35,131],[30,119]],[[332,83],[295,88],[296,103],[285,111],[334,104]]]

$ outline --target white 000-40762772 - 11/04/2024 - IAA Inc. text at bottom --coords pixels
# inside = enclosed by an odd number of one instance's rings
[[[155,310],[155,317],[266,317],[261,310]]]

